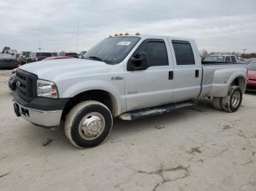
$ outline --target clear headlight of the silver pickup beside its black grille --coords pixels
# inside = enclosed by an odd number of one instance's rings
[[[59,98],[58,89],[53,82],[37,79],[37,96],[45,98]]]

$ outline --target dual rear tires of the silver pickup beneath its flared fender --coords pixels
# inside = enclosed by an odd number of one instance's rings
[[[236,112],[241,106],[243,93],[239,86],[231,86],[227,96],[222,98],[222,109],[225,112]]]

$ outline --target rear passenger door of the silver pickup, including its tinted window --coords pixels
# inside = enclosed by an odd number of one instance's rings
[[[202,66],[195,43],[169,39],[173,52],[173,100],[186,101],[197,98],[201,90]]]

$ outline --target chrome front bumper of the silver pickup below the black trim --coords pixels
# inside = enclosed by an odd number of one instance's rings
[[[41,111],[37,109],[22,106],[14,101],[15,114],[23,117],[25,120],[45,128],[56,128],[60,125],[62,110]],[[18,115],[20,114],[20,115]]]

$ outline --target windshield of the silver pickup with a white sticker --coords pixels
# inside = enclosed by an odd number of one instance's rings
[[[120,63],[129,54],[140,37],[118,36],[104,39],[92,47],[83,58],[104,61],[109,64]]]

